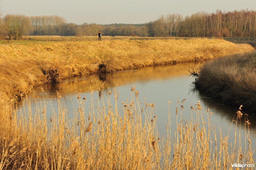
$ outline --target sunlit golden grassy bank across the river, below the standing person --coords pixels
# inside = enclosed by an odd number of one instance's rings
[[[253,50],[220,39],[62,41],[0,48],[1,102],[12,103],[33,86],[96,72],[208,60]],[[12,101],[10,100],[12,99]]]

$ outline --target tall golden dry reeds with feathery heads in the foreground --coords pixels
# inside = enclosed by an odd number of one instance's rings
[[[111,95],[115,97],[114,105]],[[233,119],[237,127],[235,141],[228,141],[228,136],[233,135],[229,132],[216,136],[210,121],[212,113],[209,109],[203,113],[200,101],[195,108],[191,105],[191,121],[177,121],[177,129],[171,129],[175,114],[169,114],[166,136],[162,137],[157,130],[153,103],[141,104],[139,92],[132,88],[131,101],[122,102],[118,110],[116,95],[117,92],[109,92],[107,97],[92,103],[89,110],[85,109],[86,100],[77,99],[79,108],[74,109],[73,120],[68,120],[70,113],[61,105],[60,97],[58,111],[52,110],[50,120],[46,119],[48,110],[44,102],[37,103],[36,112],[28,107],[28,113],[14,112],[12,119],[4,117],[9,123],[0,123],[0,168],[225,169],[234,163],[254,164],[250,123],[247,115],[242,115],[241,107]],[[176,120],[185,106],[185,100],[181,102]],[[243,118],[248,139],[244,146],[240,136]]]

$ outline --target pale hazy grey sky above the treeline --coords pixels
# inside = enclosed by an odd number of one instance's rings
[[[255,0],[0,0],[2,16],[58,15],[68,23],[143,24],[160,15],[256,10]]]

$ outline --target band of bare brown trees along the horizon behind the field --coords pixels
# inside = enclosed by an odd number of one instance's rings
[[[256,11],[198,12],[185,17],[167,14],[144,24],[108,25],[77,25],[59,16],[8,14],[0,19],[0,30],[1,36],[17,40],[22,35],[96,36],[98,31],[108,36],[256,37]]]

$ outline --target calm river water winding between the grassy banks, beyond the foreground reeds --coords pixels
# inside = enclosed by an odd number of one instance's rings
[[[173,115],[173,127],[176,128],[176,107],[180,108],[181,100],[186,99],[184,104],[184,110],[182,111],[182,119],[191,119],[191,108],[198,100],[200,100],[203,106],[202,113],[207,121],[206,110],[210,108],[211,122],[216,128],[217,139],[220,137],[220,131],[223,137],[227,136],[229,127],[229,141],[234,141],[234,135],[232,131],[235,129],[235,123],[232,123],[232,119],[238,110],[239,106],[226,106],[221,102],[207,98],[204,94],[198,92],[191,86],[194,78],[189,76],[188,70],[198,69],[205,62],[199,63],[180,63],[176,65],[168,66],[154,66],[140,69],[124,70],[113,73],[105,74],[91,74],[81,77],[68,78],[59,84],[45,84],[35,88],[35,98],[38,101],[46,102],[46,114],[48,119],[52,116],[52,108],[58,107],[56,90],[61,95],[60,101],[65,105],[66,109],[72,111],[78,109],[77,94],[80,93],[81,98],[86,98],[90,103],[91,93],[93,93],[93,101],[101,100],[102,97],[108,95],[109,91],[116,89],[119,92],[118,107],[121,108],[122,101],[131,100],[131,87],[136,87],[139,91],[139,100],[142,103],[147,101],[148,103],[155,104],[154,113],[157,115],[157,127],[161,134],[166,133],[168,111],[168,101],[172,101],[170,105],[170,112]],[[93,82],[90,86],[90,81]],[[104,83],[105,82],[105,83]],[[102,93],[97,91],[102,83],[104,83],[105,89]],[[41,92],[41,88],[44,89],[45,94]],[[112,95],[112,100],[113,99]],[[21,104],[21,110],[27,109],[26,101],[23,99]],[[31,96],[30,104],[32,111],[36,110],[36,101]],[[89,104],[90,105],[90,104]],[[86,109],[90,109],[89,106]],[[256,120],[253,113],[247,113],[251,122],[250,136],[253,148],[256,146]],[[72,118],[72,114],[69,115]],[[180,116],[180,115],[179,115]],[[255,114],[256,116],[256,114]],[[179,120],[180,117],[178,117]],[[241,136],[245,136],[244,126],[242,126]],[[245,140],[243,139],[244,143]],[[248,144],[248,142],[247,142]],[[255,154],[254,154],[255,155]],[[254,156],[255,157],[255,156]]]

